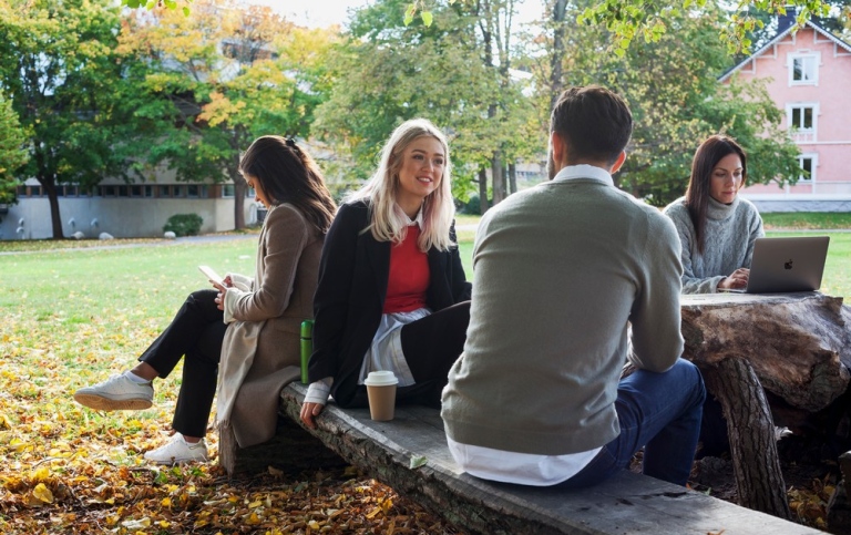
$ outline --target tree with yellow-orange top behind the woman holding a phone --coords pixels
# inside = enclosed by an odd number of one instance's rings
[[[269,8],[205,0],[188,16],[134,12],[121,41],[155,69],[146,89],[171,103],[163,119],[175,127],[148,147],[148,163],[165,163],[183,181],[233,181],[234,225],[243,228],[239,154],[259,135],[309,133],[328,85],[321,65],[330,34],[296,29]]]

